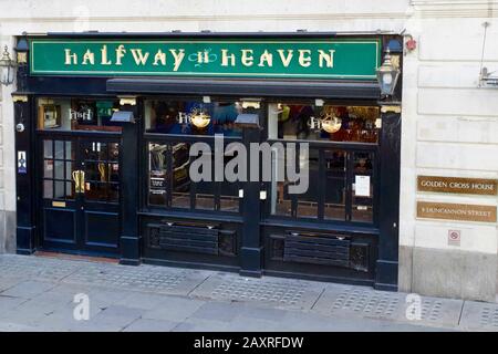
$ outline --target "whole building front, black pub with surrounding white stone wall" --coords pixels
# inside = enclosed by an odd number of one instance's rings
[[[1,248],[494,301],[496,17],[381,2],[13,6]]]

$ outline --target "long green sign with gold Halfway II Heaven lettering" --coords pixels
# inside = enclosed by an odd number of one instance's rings
[[[374,80],[378,39],[31,41],[32,75]]]

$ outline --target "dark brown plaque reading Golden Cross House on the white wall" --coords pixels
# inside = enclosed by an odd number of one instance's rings
[[[464,177],[418,176],[419,191],[496,196],[497,180]]]

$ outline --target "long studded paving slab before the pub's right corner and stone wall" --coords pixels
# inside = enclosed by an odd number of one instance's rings
[[[419,312],[414,312],[415,304],[407,295],[366,287],[329,284],[312,311],[339,317],[390,320],[417,325],[458,325],[461,300],[418,296]]]

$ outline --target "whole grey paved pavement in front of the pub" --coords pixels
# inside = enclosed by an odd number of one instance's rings
[[[273,277],[0,254],[0,331],[498,331],[498,304]]]

